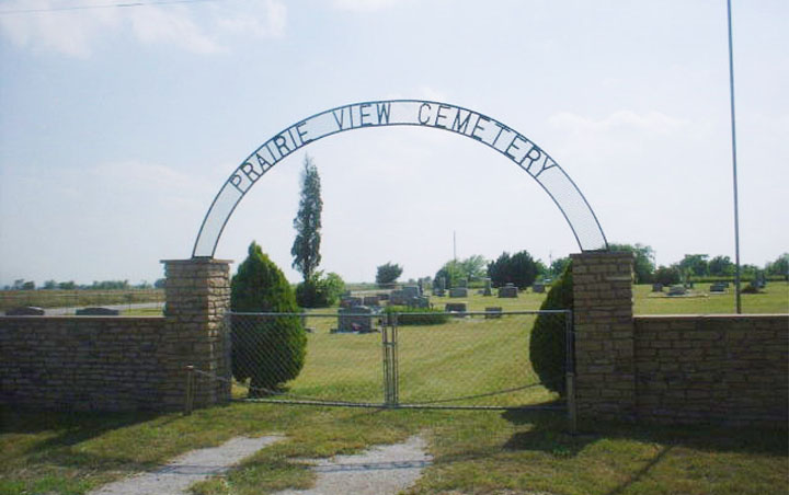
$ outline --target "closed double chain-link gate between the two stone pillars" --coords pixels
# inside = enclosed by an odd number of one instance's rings
[[[569,311],[231,313],[233,396],[377,407],[562,408],[553,390],[564,382],[564,369],[540,378],[531,366],[538,316],[544,332],[561,342],[571,335]]]

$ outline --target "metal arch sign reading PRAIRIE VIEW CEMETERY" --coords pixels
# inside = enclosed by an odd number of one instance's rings
[[[515,162],[542,186],[567,219],[582,251],[605,250],[597,217],[575,183],[534,141],[479,112],[425,100],[353,103],[321,112],[277,133],[233,170],[203,220],[192,257],[214,257],[227,221],[252,186],[274,165],[310,142],[365,127],[413,126],[473,139]]]

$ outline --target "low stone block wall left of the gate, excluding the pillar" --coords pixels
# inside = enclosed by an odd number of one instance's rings
[[[158,410],[168,393],[160,367],[165,333],[163,318],[0,316],[0,403]]]

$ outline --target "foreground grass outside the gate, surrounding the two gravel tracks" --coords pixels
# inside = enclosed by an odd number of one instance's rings
[[[180,414],[0,410],[0,493],[81,494],[236,435],[284,433],[198,494],[306,488],[299,458],[421,434],[434,464],[410,493],[786,494],[787,431],[582,424],[546,413],[344,410],[236,403]]]

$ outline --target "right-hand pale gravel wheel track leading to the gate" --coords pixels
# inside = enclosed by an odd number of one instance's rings
[[[411,437],[404,444],[374,447],[355,456],[316,460],[313,488],[287,490],[274,495],[388,495],[413,485],[433,458],[425,442]]]

